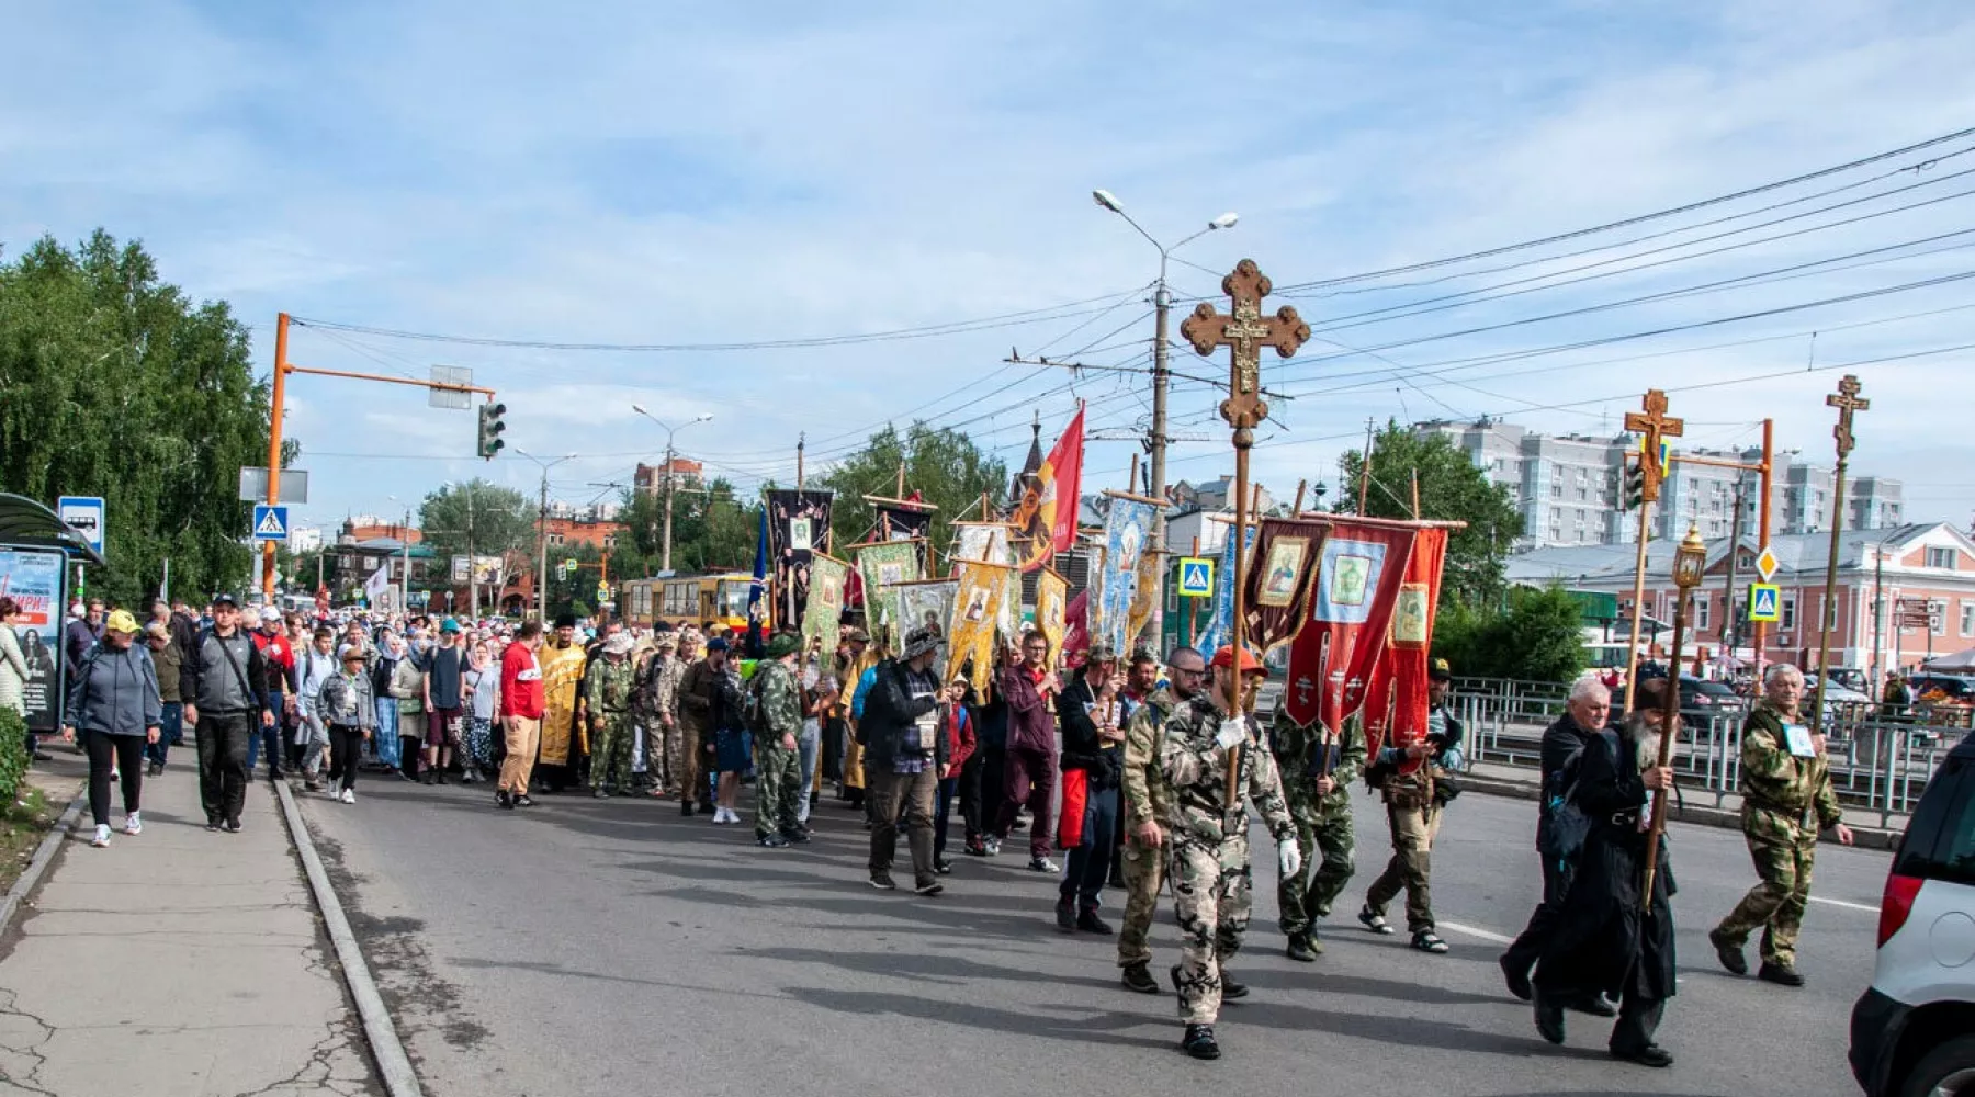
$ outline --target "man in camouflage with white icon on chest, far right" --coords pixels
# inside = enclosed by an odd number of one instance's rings
[[[1742,835],[1756,862],[1756,888],[1708,933],[1714,955],[1734,975],[1748,975],[1742,945],[1762,927],[1758,979],[1803,987],[1797,975],[1797,931],[1811,896],[1811,860],[1819,831],[1851,844],[1851,827],[1831,789],[1825,736],[1813,736],[1797,716],[1803,673],[1789,663],[1770,667],[1768,696],[1742,724]]]

